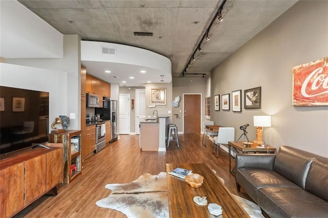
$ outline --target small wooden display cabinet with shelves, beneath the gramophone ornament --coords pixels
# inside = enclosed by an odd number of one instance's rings
[[[81,174],[81,130],[49,134],[49,141],[63,143],[63,182],[69,184]],[[76,169],[71,169],[75,164]]]

